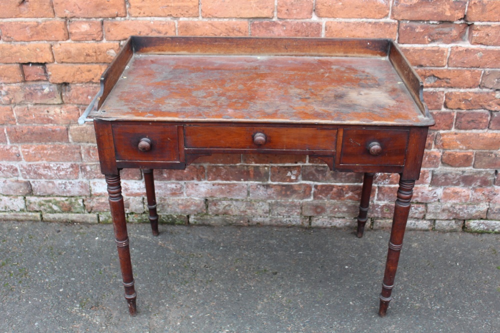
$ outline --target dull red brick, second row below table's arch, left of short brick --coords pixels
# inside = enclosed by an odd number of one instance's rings
[[[224,181],[256,181],[265,182],[269,179],[268,166],[213,166],[206,167],[207,180]]]

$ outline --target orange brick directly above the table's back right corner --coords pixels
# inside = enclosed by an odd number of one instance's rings
[[[337,38],[396,38],[396,22],[335,22],[325,23],[325,37]]]

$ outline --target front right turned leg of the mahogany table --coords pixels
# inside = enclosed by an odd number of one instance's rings
[[[382,292],[380,293],[380,307],[378,315],[385,317],[387,307],[392,299],[390,296],[394,285],[394,277],[399,261],[399,253],[403,246],[404,229],[408,220],[410,200],[413,195],[414,180],[399,180],[397,189],[397,199],[394,205],[394,217],[392,218],[392,228],[390,229],[389,249],[387,251],[387,261],[383,274]]]

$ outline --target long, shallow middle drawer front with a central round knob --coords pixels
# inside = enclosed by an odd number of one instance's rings
[[[336,129],[185,126],[186,148],[335,151]]]

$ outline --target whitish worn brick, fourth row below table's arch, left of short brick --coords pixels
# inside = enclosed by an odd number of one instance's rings
[[[269,215],[265,201],[208,200],[208,214],[212,215]]]

